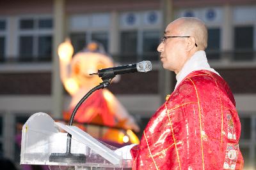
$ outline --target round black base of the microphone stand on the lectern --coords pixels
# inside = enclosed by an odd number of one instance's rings
[[[86,156],[82,153],[51,153],[50,162],[86,163]]]

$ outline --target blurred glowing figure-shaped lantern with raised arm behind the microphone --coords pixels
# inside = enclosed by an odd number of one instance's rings
[[[58,47],[61,81],[72,97],[68,111],[64,114],[66,120],[69,120],[72,110],[80,99],[89,90],[102,82],[99,76],[90,76],[89,74],[97,73],[102,68],[114,66],[113,60],[106,53],[100,52],[99,49],[97,43],[90,43],[86,49],[72,57],[74,48],[69,39]],[[108,89],[93,92],[77,110],[74,121],[118,126],[124,129],[139,131],[139,127],[134,119]],[[108,130],[101,138],[117,143],[138,143],[138,137],[130,131],[128,130],[127,134],[124,134],[120,130]],[[87,132],[90,133],[89,131]]]

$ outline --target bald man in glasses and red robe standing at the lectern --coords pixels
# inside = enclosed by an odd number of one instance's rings
[[[206,47],[201,20],[179,18],[166,27],[157,51],[177,85],[131,149],[132,169],[243,168],[234,96],[209,66]]]

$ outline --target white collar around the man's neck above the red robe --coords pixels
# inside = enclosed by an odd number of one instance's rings
[[[175,85],[175,89],[176,87],[178,87],[179,83],[186,76],[188,76],[189,73],[191,73],[192,71],[202,70],[202,69],[212,71],[213,73],[220,75],[217,71],[212,69],[208,64],[205,52],[198,51],[198,52],[195,52],[194,55],[192,55],[192,57],[186,61],[186,63],[184,64],[180,72],[176,75],[177,83]]]

